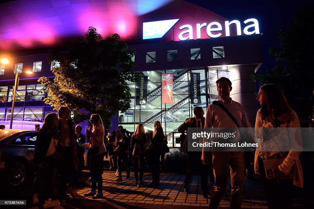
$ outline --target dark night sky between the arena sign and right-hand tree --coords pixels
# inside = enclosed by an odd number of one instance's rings
[[[307,0],[185,0],[206,8],[228,20],[239,20],[243,22],[249,18],[255,18],[259,22],[263,51],[263,64],[257,71],[258,74],[265,73],[266,70],[272,69],[278,62],[275,57],[268,54],[270,47],[280,46],[277,38],[280,29],[287,29],[288,25],[293,22],[293,15],[297,13],[300,6]]]

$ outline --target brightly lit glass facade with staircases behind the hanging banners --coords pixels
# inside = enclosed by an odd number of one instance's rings
[[[192,104],[189,99],[189,72],[200,73],[201,103]],[[203,107],[206,116],[206,108],[212,101],[218,99],[216,80],[220,74],[213,68],[199,69],[172,69],[159,71],[144,71],[143,75],[148,76],[147,102],[146,105],[135,105],[136,89],[135,83],[129,82],[131,89],[131,108],[127,112],[120,112],[118,122],[128,131],[134,131],[138,123],[143,123],[145,130],[154,130],[154,121],[162,123],[169,147],[180,147],[180,134],[178,127],[187,118],[194,116],[195,106]],[[161,74],[173,74],[173,103],[162,104],[161,101]],[[224,72],[224,76],[227,76]]]

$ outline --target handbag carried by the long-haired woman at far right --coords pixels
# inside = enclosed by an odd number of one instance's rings
[[[278,172],[276,169],[284,162],[285,158],[263,159],[265,174],[267,179],[278,179]],[[286,179],[294,178],[294,165],[291,167]]]

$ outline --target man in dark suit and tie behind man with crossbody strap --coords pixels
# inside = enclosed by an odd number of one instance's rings
[[[187,131],[187,128],[202,128],[205,125],[204,110],[202,107],[194,107],[194,117],[187,119],[181,126],[179,126],[178,131],[184,133]],[[187,134],[188,137],[188,134]],[[201,176],[201,188],[203,190],[203,196],[210,198],[208,191],[208,173],[210,170],[208,165],[203,165],[201,161],[202,152],[188,152],[187,150],[187,137],[185,138],[182,152],[188,154],[188,164],[187,164],[187,173],[184,180],[184,192],[189,193],[189,185],[192,180],[192,172],[194,170],[200,170]]]

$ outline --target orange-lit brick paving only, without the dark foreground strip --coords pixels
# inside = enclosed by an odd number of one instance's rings
[[[84,177],[82,176],[79,181],[83,180],[83,178]],[[105,171],[103,174],[104,199],[156,205],[208,206],[210,200],[203,197],[199,176],[193,176],[189,195],[183,192],[184,178],[185,175],[181,174],[161,173],[160,186],[158,188],[138,188],[132,172],[130,178],[123,178],[122,182],[115,182],[115,171]],[[151,180],[150,173],[145,173],[143,181],[148,185]],[[70,187],[68,192],[73,194],[74,198],[92,200],[91,197],[84,196],[86,192],[90,191],[90,188],[91,182],[87,180],[86,182],[79,183],[75,188]],[[265,196],[263,195],[262,188],[257,183],[257,180],[247,180],[245,178],[243,188],[244,198],[242,208],[267,208]],[[211,192],[212,184],[209,184],[209,190]],[[231,188],[229,180],[225,195],[220,202],[221,207],[230,207],[230,192]]]

